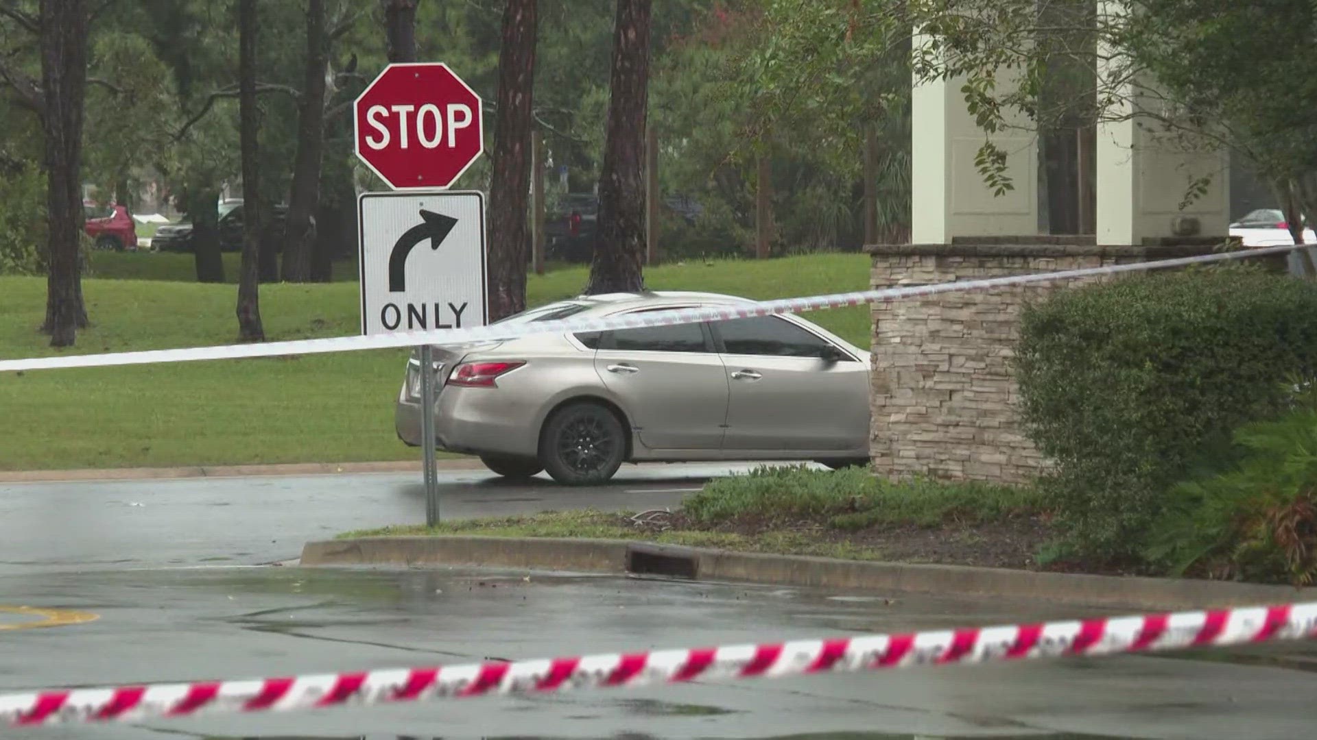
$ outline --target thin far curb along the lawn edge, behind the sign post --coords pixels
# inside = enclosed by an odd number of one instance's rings
[[[278,465],[194,465],[182,467],[109,467],[87,470],[0,470],[0,483],[76,481],[159,481],[170,478],[237,478],[246,475],[337,475],[350,473],[421,473],[420,461],[294,462]],[[440,470],[482,470],[471,458],[440,460]]]

